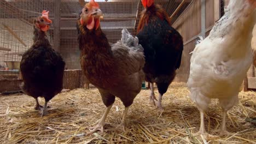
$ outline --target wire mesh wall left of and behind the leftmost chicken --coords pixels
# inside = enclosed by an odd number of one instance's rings
[[[52,9],[46,1],[0,1],[0,75],[17,79],[22,53],[32,45],[32,18],[42,9]],[[51,40],[52,41],[52,40]]]

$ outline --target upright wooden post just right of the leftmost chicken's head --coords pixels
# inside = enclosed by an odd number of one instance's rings
[[[61,0],[54,1],[54,49],[60,51],[60,3]]]

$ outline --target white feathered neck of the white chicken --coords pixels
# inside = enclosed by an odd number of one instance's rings
[[[216,23],[210,32],[209,38],[213,39],[226,35],[239,35],[252,31],[256,21],[255,10],[247,1],[233,0],[230,1],[225,9],[225,14]]]

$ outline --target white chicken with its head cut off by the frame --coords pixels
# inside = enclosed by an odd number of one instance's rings
[[[190,59],[188,88],[200,111],[197,134],[207,135],[203,121],[211,99],[219,99],[223,110],[219,135],[226,131],[226,113],[238,101],[238,92],[252,64],[251,39],[255,24],[255,0],[230,1],[226,13],[212,28],[210,35],[196,45]]]

